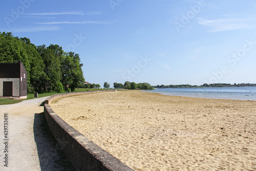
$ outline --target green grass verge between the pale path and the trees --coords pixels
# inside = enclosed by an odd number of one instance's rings
[[[79,89],[79,90],[75,90],[75,92],[87,92],[87,91],[99,91],[99,90],[106,90],[106,89]],[[107,90],[112,90],[112,89],[107,89]],[[68,93],[68,92],[63,92],[63,93]],[[54,94],[59,94],[57,92],[45,92],[45,93],[38,93],[38,98],[41,97],[46,97],[46,96],[52,96]],[[23,100],[29,100],[29,99],[34,99],[36,97],[34,97],[34,93],[28,94],[26,99]],[[23,100],[14,100],[14,99],[0,99],[0,105],[5,105],[5,104],[14,104],[14,103],[19,103]]]

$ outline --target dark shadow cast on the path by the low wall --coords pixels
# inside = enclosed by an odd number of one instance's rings
[[[44,113],[35,114],[33,130],[42,171],[75,170],[52,135]]]

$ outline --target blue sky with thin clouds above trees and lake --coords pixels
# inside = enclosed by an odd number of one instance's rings
[[[256,1],[1,1],[0,31],[80,55],[86,81],[256,83]]]

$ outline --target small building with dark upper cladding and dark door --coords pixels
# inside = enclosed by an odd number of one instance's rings
[[[0,63],[0,97],[27,98],[27,71],[22,63]]]

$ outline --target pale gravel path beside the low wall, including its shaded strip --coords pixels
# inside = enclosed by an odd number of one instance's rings
[[[0,170],[73,170],[52,136],[44,117],[47,97],[0,105]],[[8,114],[5,153],[4,115]],[[8,155],[8,167],[4,157]]]

